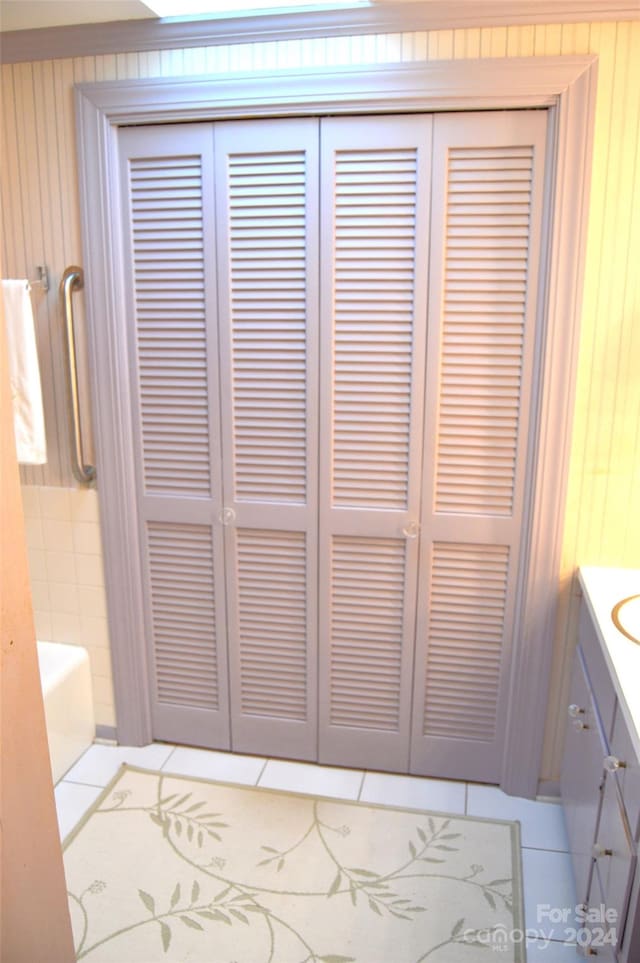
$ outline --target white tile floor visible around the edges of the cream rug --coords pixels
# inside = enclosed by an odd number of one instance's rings
[[[249,786],[307,792],[339,799],[387,803],[439,812],[517,819],[521,825],[525,924],[529,963],[571,963],[583,959],[565,933],[549,923],[540,907],[573,907],[576,899],[562,808],[507,796],[494,786],[444,779],[395,776],[258,756],[234,755],[154,743],[143,748],[96,743],[56,786],[60,835],[64,838],[116,774],[121,763],[162,769]],[[533,934],[536,934],[534,936]]]

